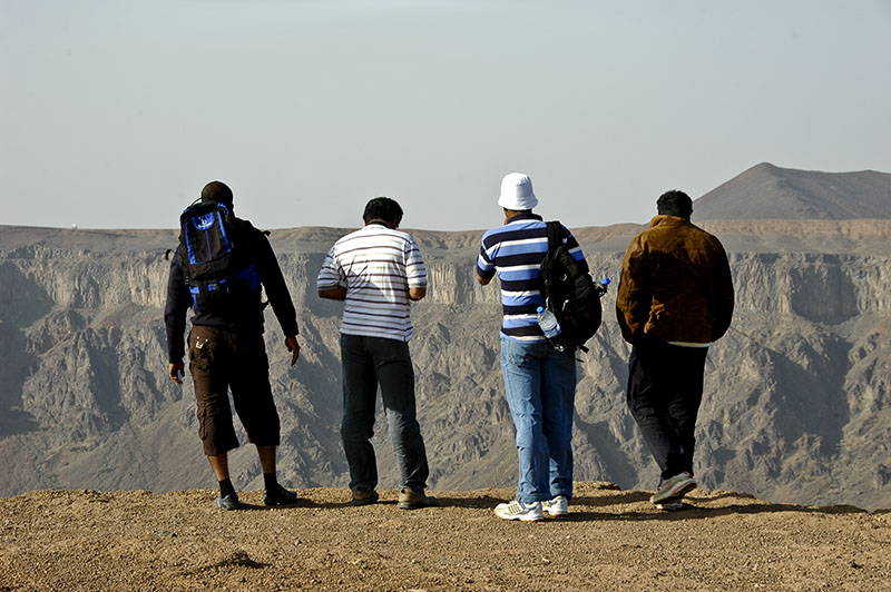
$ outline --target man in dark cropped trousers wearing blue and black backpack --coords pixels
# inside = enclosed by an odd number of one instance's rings
[[[179,240],[170,262],[164,313],[168,374],[183,384],[183,334],[186,312],[192,308],[189,372],[198,434],[219,482],[215,505],[222,510],[241,506],[228,470],[227,453],[238,446],[229,389],[238,418],[260,456],[263,503],[294,503],[296,493],[280,485],[275,475],[280,423],[263,339],[261,288],[265,288],[282,327],[292,366],[300,357],[297,319],[272,246],[264,233],[235,217],[232,190],[221,181],[207,184],[200,201],[183,213]]]

